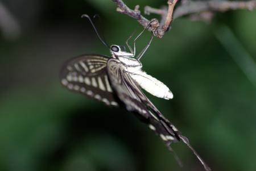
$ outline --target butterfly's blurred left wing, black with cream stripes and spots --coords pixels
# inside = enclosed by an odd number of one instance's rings
[[[110,58],[102,55],[81,55],[67,61],[61,70],[61,84],[69,90],[119,106],[109,83],[106,65]]]

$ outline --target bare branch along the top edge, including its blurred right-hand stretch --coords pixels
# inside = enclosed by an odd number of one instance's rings
[[[149,31],[152,31],[154,36],[162,37],[164,32],[168,30],[170,23],[172,22],[172,18],[179,18],[181,16],[193,16],[193,14],[207,14],[207,16],[212,16],[212,12],[220,11],[228,11],[228,10],[238,10],[238,9],[247,9],[253,10],[256,9],[256,0],[251,1],[185,1],[181,3],[175,10],[174,7],[178,0],[168,0],[168,8],[163,9],[155,9],[149,6],[146,6],[144,9],[145,14],[159,14],[162,16],[162,20],[159,24],[158,20],[154,20],[154,24],[150,23],[150,20],[144,18],[141,15],[141,11],[139,11],[139,6],[137,5],[134,10],[131,10],[129,7],[125,5],[122,0],[112,0],[117,5],[117,11],[122,14],[126,14],[135,18],[144,28],[150,24],[148,27]],[[209,17],[210,18],[210,17]]]

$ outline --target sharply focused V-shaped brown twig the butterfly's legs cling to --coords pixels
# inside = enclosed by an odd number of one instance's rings
[[[170,26],[170,23],[172,21],[172,14],[174,12],[174,7],[175,7],[177,1],[178,0],[168,0],[168,2],[167,2],[168,10],[166,12],[166,17],[164,19],[164,22],[163,22],[163,24],[161,24],[161,26],[159,26],[158,20],[151,19],[151,21],[154,20],[154,23],[151,23],[148,30],[152,31],[154,36],[161,38],[161,37],[163,37],[164,32],[166,32],[168,30],[168,27]],[[121,12],[122,14],[126,14],[126,15],[131,16],[132,18],[137,19],[137,21],[144,28],[146,28],[148,26],[148,24],[150,23],[150,21],[148,19],[144,18],[144,16],[141,15],[141,12],[138,10],[139,6],[136,6],[135,10],[131,10],[131,9],[129,9],[129,7],[127,7],[125,5],[125,3],[123,3],[122,0],[113,0],[113,2],[117,5],[118,12]]]

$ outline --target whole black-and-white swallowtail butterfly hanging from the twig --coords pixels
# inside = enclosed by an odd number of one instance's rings
[[[88,15],[84,16],[90,20]],[[92,20],[90,22],[92,23]],[[94,27],[93,23],[92,25]],[[94,30],[98,35],[95,27]],[[153,35],[143,51],[135,57],[135,41],[141,34],[134,39],[133,49],[128,40],[126,41],[130,52],[125,51],[125,47],[121,45],[111,45],[108,46],[110,56],[80,55],[67,61],[61,70],[61,84],[69,90],[97,99],[108,106],[125,107],[159,135],[169,149],[171,143],[183,141],[203,164],[205,170],[210,170],[189,144],[187,137],[181,135],[174,124],[167,120],[143,93],[142,89],[159,98],[173,98],[166,85],[142,70],[140,59],[151,44]],[[102,40],[99,35],[98,37]],[[103,40],[102,42],[106,44]]]

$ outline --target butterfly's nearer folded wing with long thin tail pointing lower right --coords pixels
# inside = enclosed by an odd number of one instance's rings
[[[205,164],[197,152],[191,147],[187,137],[156,109],[152,102],[144,95],[140,87],[135,83],[130,73],[126,72],[125,66],[116,59],[108,61],[108,74],[115,93],[124,103],[126,109],[137,114],[142,122],[147,123],[151,130],[155,131],[168,145],[177,141],[183,141],[196,155],[205,170],[210,168]],[[169,148],[170,149],[170,148]]]

